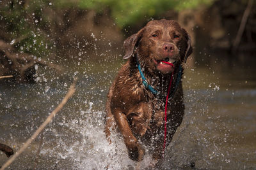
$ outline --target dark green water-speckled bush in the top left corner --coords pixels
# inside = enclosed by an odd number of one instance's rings
[[[41,29],[42,25],[45,24],[41,9],[47,3],[45,1],[33,1],[26,6],[20,2],[10,1],[0,6],[0,26],[8,36],[8,39],[5,40],[13,44],[19,52],[43,57],[51,51],[49,49],[51,43]]]

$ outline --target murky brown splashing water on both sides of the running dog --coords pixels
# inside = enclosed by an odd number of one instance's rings
[[[104,105],[123,62],[114,59],[70,64],[62,76],[49,71],[38,83],[0,85],[0,143],[15,151],[65,96],[74,75],[77,91],[45,131],[10,166],[12,169],[136,169],[151,155],[130,160],[118,133],[108,145]],[[80,61],[81,62],[81,61]],[[45,69],[40,68],[39,73]],[[161,169],[256,168],[256,69],[250,66],[187,68],[186,115]],[[0,153],[0,165],[7,160]]]

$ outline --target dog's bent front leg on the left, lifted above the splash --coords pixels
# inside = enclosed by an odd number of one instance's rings
[[[142,160],[145,152],[140,143],[138,143],[138,139],[134,137],[126,115],[122,113],[122,110],[115,109],[114,117],[118,125],[118,129],[124,136],[124,142],[128,149],[130,159],[137,161]]]

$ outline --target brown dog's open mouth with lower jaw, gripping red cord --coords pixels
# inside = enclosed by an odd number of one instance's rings
[[[170,59],[168,57],[164,58],[164,60],[155,60],[154,63],[159,71],[163,73],[170,73],[174,70],[173,66],[177,62],[175,59]]]

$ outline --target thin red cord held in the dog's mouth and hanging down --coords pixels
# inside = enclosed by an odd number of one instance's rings
[[[163,61],[165,64],[169,64],[170,66],[173,66],[174,65],[170,62],[165,62]],[[163,157],[164,157],[164,150],[165,150],[165,145],[166,145],[166,134],[167,134],[167,105],[168,105],[168,98],[169,98],[169,94],[170,94],[170,90],[171,90],[171,87],[172,87],[172,80],[173,80],[173,73],[171,75],[171,79],[170,79],[170,83],[169,83],[169,86],[168,86],[168,90],[167,90],[167,96],[166,96],[166,100],[165,100],[165,108],[164,108],[164,145],[163,145]]]

